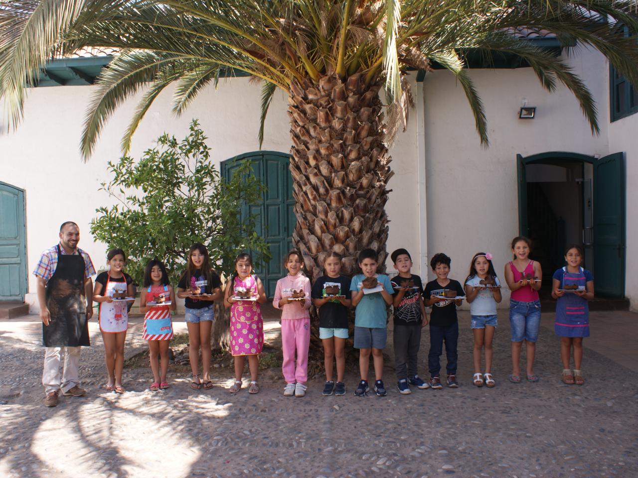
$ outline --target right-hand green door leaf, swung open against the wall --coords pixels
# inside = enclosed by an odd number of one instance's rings
[[[593,275],[595,291],[625,296],[625,158],[614,153],[594,162]]]

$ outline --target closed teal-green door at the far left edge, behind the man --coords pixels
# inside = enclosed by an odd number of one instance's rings
[[[27,293],[24,191],[0,182],[0,300]]]

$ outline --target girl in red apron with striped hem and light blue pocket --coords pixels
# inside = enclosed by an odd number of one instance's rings
[[[142,338],[149,341],[153,382],[151,390],[168,388],[168,343],[173,337],[170,311],[175,310],[175,293],[168,284],[166,267],[154,259],[144,272],[144,289],[140,294],[140,312],[144,315]]]

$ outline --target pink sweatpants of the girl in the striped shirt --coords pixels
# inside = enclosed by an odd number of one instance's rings
[[[286,383],[308,381],[308,347],[310,319],[281,319],[281,349],[283,350],[283,378]],[[295,351],[297,366],[295,367]]]

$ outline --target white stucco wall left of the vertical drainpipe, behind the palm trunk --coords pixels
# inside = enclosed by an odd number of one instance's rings
[[[413,82],[414,83],[414,82]],[[7,132],[0,125],[0,181],[26,191],[27,267],[29,294],[26,301],[31,312],[37,312],[35,280],[31,272],[42,250],[57,242],[59,225],[75,221],[80,226],[79,246],[87,250],[96,268],[105,265],[105,245],[96,243],[89,233],[89,222],[98,206],[110,199],[100,184],[108,180],[107,162],[119,158],[122,133],[135,108],[135,101],[122,105],[108,121],[94,156],[83,163],[79,154],[80,134],[85,110],[94,87],[43,87],[31,89],[25,106],[24,121],[16,131]],[[191,119],[197,118],[209,137],[216,164],[244,152],[258,150],[260,87],[248,78],[232,78],[219,82],[215,90],[202,91],[197,101],[182,115],[171,113],[171,91],[165,91],[154,102],[133,138],[131,156],[153,145],[162,133],[181,139],[188,133]],[[287,99],[277,92],[272,100],[265,126],[264,150],[290,150]],[[3,119],[6,115],[3,112]],[[390,229],[388,250],[396,247],[418,247],[418,236],[404,234],[406,226],[416,221],[418,204],[416,178],[412,174],[415,161],[415,119],[410,119],[408,133],[399,133],[390,151],[391,167],[396,175],[390,181],[394,189],[387,212],[394,222]],[[405,239],[404,239],[405,238]],[[391,264],[390,264],[390,270]]]

